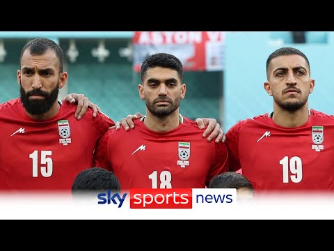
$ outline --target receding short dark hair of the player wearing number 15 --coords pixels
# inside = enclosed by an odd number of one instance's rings
[[[48,49],[53,50],[54,52],[56,52],[56,56],[59,59],[59,70],[61,73],[63,72],[63,50],[61,50],[61,47],[53,40],[49,38],[35,38],[33,40],[30,40],[22,48],[21,55],[19,56],[20,62],[22,60],[24,52],[27,49],[29,49],[31,55],[42,55],[45,54]]]

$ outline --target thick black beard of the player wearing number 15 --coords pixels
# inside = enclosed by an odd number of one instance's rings
[[[50,93],[41,91],[40,89],[33,89],[26,93],[21,84],[19,92],[24,109],[26,109],[29,114],[39,115],[49,112],[54,102],[58,99],[59,89],[58,86],[56,86]],[[30,100],[29,97],[34,95],[43,96],[44,99]]]

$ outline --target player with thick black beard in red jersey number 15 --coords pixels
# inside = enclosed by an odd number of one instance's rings
[[[71,191],[74,178],[92,167],[95,145],[114,123],[88,109],[76,119],[76,105],[58,102],[65,86],[63,52],[37,38],[21,52],[20,98],[0,107],[0,189]]]

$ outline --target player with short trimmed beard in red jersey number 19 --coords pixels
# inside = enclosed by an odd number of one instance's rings
[[[266,69],[273,112],[228,130],[230,167],[241,168],[255,190],[333,190],[334,118],[308,108],[315,87],[308,58],[283,47],[269,56]]]

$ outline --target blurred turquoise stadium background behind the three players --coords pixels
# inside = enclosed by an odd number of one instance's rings
[[[141,79],[134,70],[134,33],[0,31],[0,102],[19,96],[16,73],[22,47],[33,38],[45,37],[55,40],[65,56],[64,70],[69,78],[61,89],[60,98],[67,93],[84,93],[115,121],[135,112],[145,114],[145,103],[138,97],[137,89]],[[271,112],[272,100],[263,89],[267,80],[265,64],[269,54],[279,47],[296,47],[308,56],[311,77],[316,83],[310,96],[310,108],[333,114],[334,32],[223,33],[223,54],[220,55],[223,69],[184,72],[187,91],[181,114],[191,119],[215,118],[227,131],[241,119]],[[100,57],[96,51],[99,47]]]

